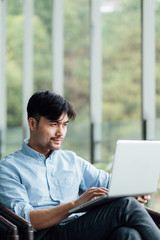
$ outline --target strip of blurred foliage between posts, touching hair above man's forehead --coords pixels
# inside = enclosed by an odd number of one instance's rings
[[[64,1],[65,96],[89,118],[89,0]]]

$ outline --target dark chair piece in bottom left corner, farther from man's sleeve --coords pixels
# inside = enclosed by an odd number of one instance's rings
[[[0,239],[19,240],[17,227],[4,217],[0,216]]]

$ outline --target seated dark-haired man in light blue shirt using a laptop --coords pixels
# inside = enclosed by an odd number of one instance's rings
[[[50,91],[36,92],[27,112],[30,138],[0,163],[0,203],[31,222],[35,239],[160,239],[140,204],[150,196],[138,201],[124,197],[69,216],[73,207],[107,193],[110,176],[60,150],[69,120],[76,116],[67,100]],[[80,197],[79,189],[85,191]]]

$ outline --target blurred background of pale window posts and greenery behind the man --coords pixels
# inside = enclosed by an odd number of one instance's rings
[[[37,90],[77,118],[63,149],[111,171],[118,139],[160,139],[160,0],[0,0],[0,158]],[[160,190],[150,206],[160,210]]]

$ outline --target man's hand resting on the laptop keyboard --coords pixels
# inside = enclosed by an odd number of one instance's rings
[[[107,193],[108,189],[104,187],[91,187],[85,193],[83,193],[78,199],[75,200],[75,205],[79,206],[83,203],[86,203]]]

